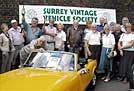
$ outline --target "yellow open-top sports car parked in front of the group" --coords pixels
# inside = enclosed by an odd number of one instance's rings
[[[78,63],[79,61],[79,63]],[[21,68],[0,74],[0,91],[85,91],[95,88],[95,60],[69,52],[32,52]]]

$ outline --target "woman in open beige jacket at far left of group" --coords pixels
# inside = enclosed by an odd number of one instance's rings
[[[2,51],[2,67],[1,73],[7,72],[11,69],[11,63],[14,58],[15,48],[11,37],[8,34],[8,25],[3,23],[1,25],[2,33],[0,34],[0,50]]]

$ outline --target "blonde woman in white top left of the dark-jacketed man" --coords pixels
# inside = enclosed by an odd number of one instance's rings
[[[64,51],[64,42],[66,41],[66,34],[63,31],[64,25],[62,23],[57,24],[57,35],[55,37],[55,50]]]

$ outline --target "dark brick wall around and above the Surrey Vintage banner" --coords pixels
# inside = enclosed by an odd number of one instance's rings
[[[117,22],[127,16],[134,23],[134,0],[0,0],[0,24],[18,20],[19,4],[60,5],[89,8],[116,9]]]

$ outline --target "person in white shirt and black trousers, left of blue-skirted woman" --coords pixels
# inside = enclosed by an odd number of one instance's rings
[[[89,58],[96,59],[99,61],[100,56],[100,41],[101,35],[100,32],[97,31],[97,26],[95,24],[91,25],[91,31],[85,35],[85,51]]]

